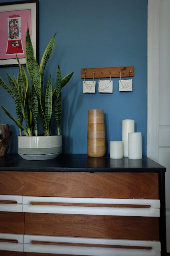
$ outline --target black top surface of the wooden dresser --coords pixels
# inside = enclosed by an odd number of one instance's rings
[[[65,172],[166,172],[166,168],[146,156],[140,160],[88,157],[85,154],[62,154],[51,160],[28,161],[18,154],[0,157],[0,171]]]

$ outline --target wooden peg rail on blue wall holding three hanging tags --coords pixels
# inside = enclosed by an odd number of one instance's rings
[[[134,67],[112,67],[112,68],[91,68],[91,69],[81,69],[81,78],[83,79],[84,77],[87,78],[93,78],[93,72],[94,72],[94,78],[99,78],[100,77],[100,72],[101,73],[101,78],[106,78],[110,77],[110,72],[111,71],[111,77],[120,77],[120,70],[121,70],[121,77],[129,77],[129,72],[130,72],[130,77],[133,77],[134,75]],[[86,73],[85,73],[86,71]]]

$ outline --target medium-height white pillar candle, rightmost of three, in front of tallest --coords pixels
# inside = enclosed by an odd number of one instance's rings
[[[128,158],[142,159],[142,133],[128,133]]]

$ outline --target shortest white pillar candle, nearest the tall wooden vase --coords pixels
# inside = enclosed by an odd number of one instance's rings
[[[123,158],[123,141],[110,141],[110,158]]]

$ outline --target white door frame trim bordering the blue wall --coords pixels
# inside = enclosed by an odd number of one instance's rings
[[[159,156],[159,34],[161,0],[148,0],[147,156]]]

